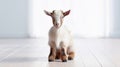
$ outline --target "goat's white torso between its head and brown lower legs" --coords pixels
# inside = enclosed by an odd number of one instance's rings
[[[65,26],[61,26],[60,28],[51,27],[49,31],[49,45],[57,49],[69,48],[69,51],[73,51],[71,32]]]

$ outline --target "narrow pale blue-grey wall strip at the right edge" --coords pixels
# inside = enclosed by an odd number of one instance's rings
[[[120,37],[120,0],[112,0],[112,23],[110,37]]]

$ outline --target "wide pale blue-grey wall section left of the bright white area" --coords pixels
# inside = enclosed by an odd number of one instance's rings
[[[0,0],[0,37],[28,37],[28,0]]]

